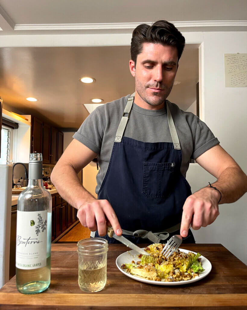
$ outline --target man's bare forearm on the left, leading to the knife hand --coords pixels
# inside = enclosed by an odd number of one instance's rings
[[[70,165],[56,165],[52,170],[51,181],[61,197],[76,209],[86,201],[95,199],[82,186],[76,171]]]

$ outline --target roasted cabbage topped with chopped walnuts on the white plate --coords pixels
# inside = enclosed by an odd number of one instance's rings
[[[198,277],[204,270],[199,253],[195,255],[177,250],[167,259],[161,254],[164,246],[162,243],[149,245],[144,249],[149,255],[140,254],[139,260],[122,264],[122,268],[138,277],[166,282],[187,281]]]

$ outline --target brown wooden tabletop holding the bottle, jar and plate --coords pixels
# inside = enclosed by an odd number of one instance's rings
[[[143,246],[143,245],[142,245]],[[0,309],[247,309],[247,267],[220,244],[185,244],[212,264],[204,279],[182,286],[157,286],[135,281],[115,264],[126,250],[109,245],[107,283],[97,293],[85,293],[77,283],[77,245],[52,244],[51,284],[40,294],[17,291],[15,277],[0,290]]]

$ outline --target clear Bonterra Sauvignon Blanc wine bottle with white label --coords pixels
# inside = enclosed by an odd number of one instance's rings
[[[36,294],[51,279],[52,196],[43,187],[41,153],[30,154],[28,176],[17,201],[16,286],[23,294]]]

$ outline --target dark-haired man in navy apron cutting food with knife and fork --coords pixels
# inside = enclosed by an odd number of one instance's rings
[[[190,225],[213,223],[219,203],[246,192],[246,175],[206,124],[166,100],[184,45],[167,21],[136,27],[129,61],[135,93],[96,108],[52,171],[57,191],[78,209],[82,225],[96,231],[91,236],[117,242],[105,236],[108,224],[135,243],[148,242],[150,231],[153,242],[179,233],[195,242]],[[96,156],[98,200],[77,178]],[[194,194],[185,179],[190,158],[217,178]]]

